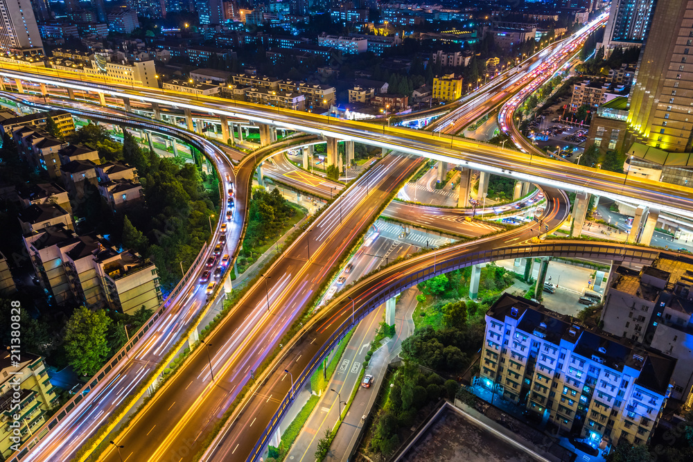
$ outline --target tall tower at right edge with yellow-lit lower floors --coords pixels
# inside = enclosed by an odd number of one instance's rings
[[[693,147],[693,4],[658,0],[629,98],[638,141],[669,152]]]

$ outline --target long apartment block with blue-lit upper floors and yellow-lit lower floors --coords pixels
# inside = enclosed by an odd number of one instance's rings
[[[503,294],[486,313],[478,383],[605,449],[649,441],[676,359]]]

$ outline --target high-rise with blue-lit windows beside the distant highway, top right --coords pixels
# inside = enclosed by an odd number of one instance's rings
[[[647,37],[656,0],[611,2],[604,43],[606,52],[617,46],[641,46]]]

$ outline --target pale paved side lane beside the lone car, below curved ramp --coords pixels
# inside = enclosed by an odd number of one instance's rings
[[[349,408],[349,413],[337,431],[325,461],[346,462],[353,447],[359,443],[361,429],[365,423],[362,416],[367,416],[371,413],[371,408],[378,395],[378,389],[383,384],[388,364],[399,354],[402,341],[414,332],[412,314],[414,313],[414,308],[416,308],[416,294],[418,293],[419,291],[416,290],[416,287],[412,287],[402,293],[395,309],[395,337],[373,354],[366,371],[373,375],[374,384],[371,386],[371,389],[359,389],[358,393],[356,393],[356,397],[351,403],[351,408]]]

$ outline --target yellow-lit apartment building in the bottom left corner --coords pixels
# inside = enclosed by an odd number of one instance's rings
[[[58,395],[53,391],[53,385],[46,372],[43,358],[27,351],[21,351],[21,362],[12,364],[9,347],[0,346],[0,457],[9,458],[14,450],[15,442],[10,439],[15,435],[12,427],[15,421],[19,423],[21,442],[30,438],[45,423],[46,412],[58,405]],[[19,382],[19,384],[17,384]],[[19,386],[19,409],[15,387]],[[17,420],[13,416],[17,414]]]

